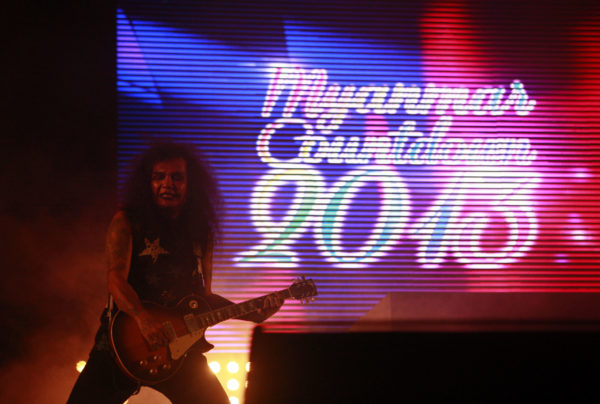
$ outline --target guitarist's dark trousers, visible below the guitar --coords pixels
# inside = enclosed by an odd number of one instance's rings
[[[173,404],[229,404],[206,357],[197,351],[188,354],[175,375],[152,388]],[[67,404],[122,404],[137,389],[138,385],[123,374],[109,350],[94,348]]]

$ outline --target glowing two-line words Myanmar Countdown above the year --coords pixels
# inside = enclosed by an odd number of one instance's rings
[[[279,100],[287,98],[283,106]],[[534,110],[531,99],[519,80],[510,84],[510,93],[502,86],[466,87],[424,86],[396,83],[388,85],[354,84],[342,87],[328,84],[325,69],[307,71],[299,67],[274,68],[261,115],[281,117],[268,123],[259,134],[257,152],[262,162],[272,165],[269,140],[285,126],[303,127],[299,153],[289,163],[318,164],[413,164],[413,165],[530,165],[537,157],[528,138],[447,137],[453,116],[469,113],[477,117],[498,117],[513,111],[526,116]],[[300,108],[303,106],[303,108]],[[302,109],[301,116],[297,116]],[[385,136],[336,136],[351,113],[359,115],[428,115],[438,117],[428,136],[416,130],[415,120],[406,120]],[[312,123],[311,123],[312,122]]]

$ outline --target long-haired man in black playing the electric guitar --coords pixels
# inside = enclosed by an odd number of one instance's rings
[[[217,186],[208,166],[182,144],[150,147],[131,174],[124,207],[108,229],[109,302],[114,299],[118,309],[135,319],[150,345],[167,344],[169,334],[144,309],[142,301],[171,306],[196,293],[212,307],[232,303],[211,291],[218,204]],[[270,295],[261,310],[241,319],[262,322],[282,303]],[[111,307],[105,309],[89,360],[68,404],[121,404],[139,390],[139,382],[118,367],[108,342],[108,316],[114,312]],[[229,403],[205,356],[193,347],[181,369],[152,388],[174,403]]]

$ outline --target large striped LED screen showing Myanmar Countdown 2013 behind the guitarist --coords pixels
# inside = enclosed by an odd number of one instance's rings
[[[193,143],[225,197],[215,290],[316,282],[279,330],[347,330],[393,292],[600,291],[594,2],[148,0],[116,19],[119,186],[152,140]],[[215,352],[247,352],[248,327],[212,328]]]

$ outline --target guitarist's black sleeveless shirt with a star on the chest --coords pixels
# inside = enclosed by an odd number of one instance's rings
[[[133,221],[131,229],[128,281],[140,300],[172,306],[191,293],[204,293],[200,257],[182,219]]]

